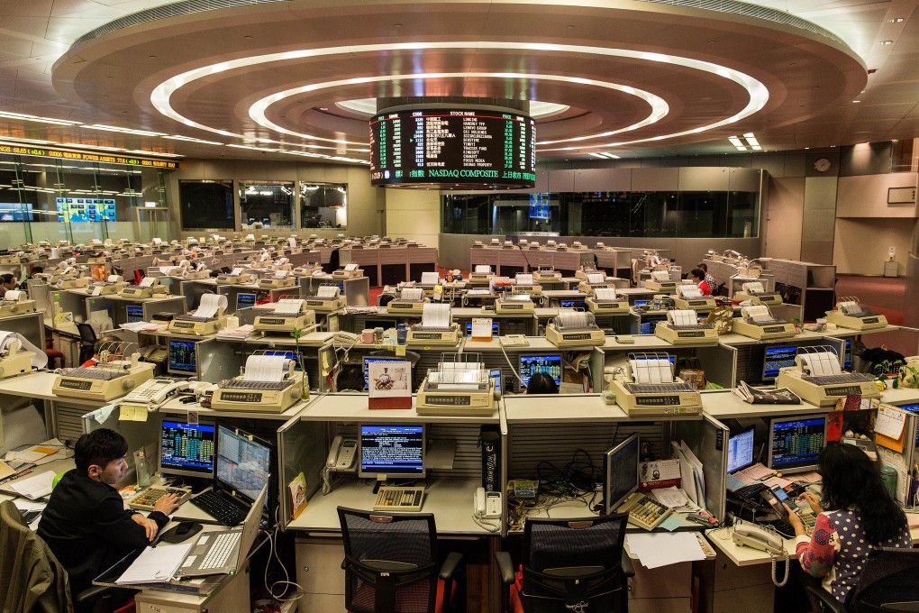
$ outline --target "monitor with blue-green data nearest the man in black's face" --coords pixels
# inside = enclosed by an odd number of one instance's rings
[[[160,428],[160,472],[210,479],[214,474],[214,426],[164,419]]]

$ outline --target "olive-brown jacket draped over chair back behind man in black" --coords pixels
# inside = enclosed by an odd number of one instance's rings
[[[67,573],[16,505],[0,503],[0,610],[72,610]]]

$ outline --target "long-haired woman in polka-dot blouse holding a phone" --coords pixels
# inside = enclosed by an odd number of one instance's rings
[[[912,547],[913,541],[906,516],[864,451],[831,443],[820,452],[818,464],[822,500],[810,493],[799,498],[818,514],[811,538],[791,509],[789,523],[797,535],[801,568],[823,577],[823,588],[845,603],[874,547]]]

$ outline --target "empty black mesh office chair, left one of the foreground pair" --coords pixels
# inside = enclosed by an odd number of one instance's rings
[[[351,613],[450,611],[462,556],[437,569],[430,513],[388,514],[338,507],[345,541],[345,606]]]

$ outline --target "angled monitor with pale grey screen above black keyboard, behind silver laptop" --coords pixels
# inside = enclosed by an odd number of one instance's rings
[[[217,426],[214,480],[250,503],[261,493],[271,473],[271,447],[242,430]],[[267,496],[265,504],[267,506]]]

